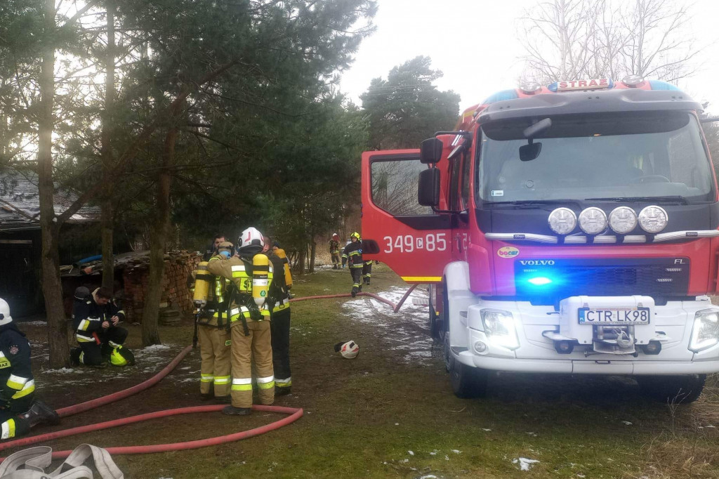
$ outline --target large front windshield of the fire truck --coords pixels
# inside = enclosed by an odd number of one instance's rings
[[[672,196],[713,202],[713,176],[696,117],[684,111],[562,115],[520,160],[536,119],[482,125],[478,197],[487,203]]]

